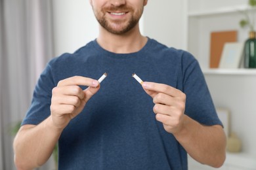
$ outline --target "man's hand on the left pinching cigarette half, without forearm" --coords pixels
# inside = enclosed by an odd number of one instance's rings
[[[89,86],[82,90],[81,86]],[[83,76],[73,76],[60,80],[53,88],[51,99],[51,117],[53,125],[58,129],[63,129],[72,118],[75,118],[85,107],[87,101],[100,88],[97,80]]]

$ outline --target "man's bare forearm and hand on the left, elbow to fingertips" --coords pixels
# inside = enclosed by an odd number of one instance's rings
[[[82,90],[79,86],[88,88]],[[97,80],[83,76],[60,80],[53,88],[51,116],[36,126],[26,124],[20,127],[14,139],[17,169],[34,169],[49,160],[64,127],[83,110],[87,101],[99,89]]]

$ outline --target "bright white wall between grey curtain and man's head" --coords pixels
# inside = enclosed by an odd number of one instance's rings
[[[98,23],[88,0],[54,0],[55,56],[74,52],[98,35]]]

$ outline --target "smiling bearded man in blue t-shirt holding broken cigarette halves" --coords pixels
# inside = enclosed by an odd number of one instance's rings
[[[59,169],[187,169],[187,153],[221,167],[226,138],[196,59],[140,34],[146,0],[90,3],[98,38],[43,71],[14,140],[18,169],[57,142]]]

